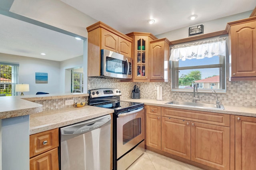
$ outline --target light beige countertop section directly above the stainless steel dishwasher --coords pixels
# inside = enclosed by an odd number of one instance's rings
[[[110,113],[114,113],[114,110],[93,106],[73,107],[36,113],[30,115],[30,134],[72,125]]]

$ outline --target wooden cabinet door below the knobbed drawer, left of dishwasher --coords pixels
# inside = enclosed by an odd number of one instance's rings
[[[30,159],[30,170],[58,170],[58,148]]]

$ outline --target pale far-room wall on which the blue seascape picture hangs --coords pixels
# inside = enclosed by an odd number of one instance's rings
[[[37,59],[19,55],[0,53],[0,61],[19,63],[19,83],[29,84],[30,91],[24,95],[35,95],[36,92],[60,93],[60,62]],[[35,73],[48,73],[48,83],[36,84]]]

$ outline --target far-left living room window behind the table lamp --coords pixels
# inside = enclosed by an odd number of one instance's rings
[[[0,62],[0,96],[14,96],[18,83],[18,64]]]

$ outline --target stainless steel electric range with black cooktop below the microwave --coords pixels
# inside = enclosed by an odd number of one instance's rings
[[[120,101],[119,89],[94,89],[89,95],[89,105],[114,109],[113,169],[125,170],[145,150],[144,103]]]

